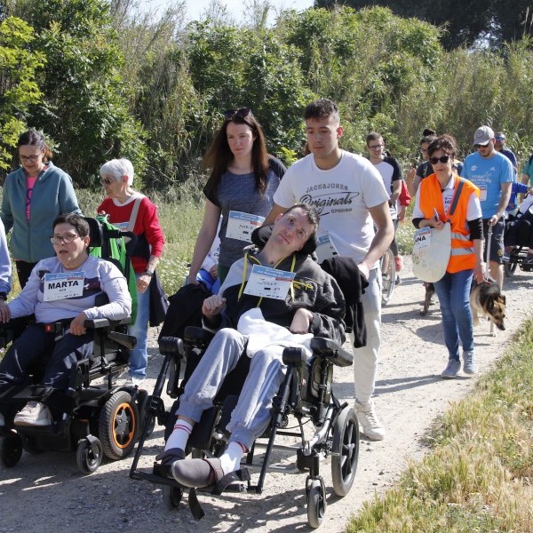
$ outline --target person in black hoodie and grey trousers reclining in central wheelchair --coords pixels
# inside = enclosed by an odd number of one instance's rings
[[[156,457],[164,465],[171,465],[172,475],[182,485],[209,487],[239,468],[243,454],[268,426],[272,400],[284,375],[284,346],[294,346],[291,341],[298,343],[311,336],[344,342],[342,293],[330,274],[323,272],[308,255],[316,246],[317,227],[318,214],[313,207],[298,204],[280,214],[264,247],[252,249],[236,261],[219,295],[204,301],[204,326],[221,329],[189,378],[179,400],[174,430],[165,450]],[[258,273],[261,267],[278,269],[278,274],[267,282],[267,276]],[[290,279],[289,273],[295,277],[292,282],[285,282],[283,293],[283,282],[275,280]],[[267,296],[278,290],[277,298]],[[239,319],[243,315],[246,318],[254,309],[252,314],[258,314],[257,307],[266,321],[259,322],[260,333],[267,340],[254,352],[251,344],[255,333],[244,335],[242,326],[246,321]],[[283,340],[275,337],[280,330],[285,331]],[[217,458],[181,460],[185,458],[193,426],[203,410],[211,408],[227,373],[246,355],[251,356],[250,372],[227,425],[231,434],[227,449]]]

